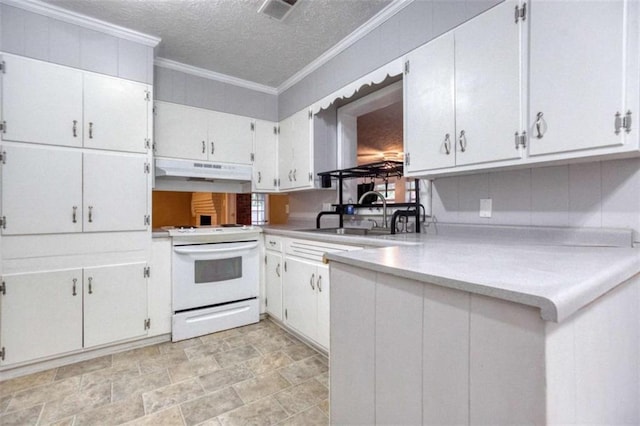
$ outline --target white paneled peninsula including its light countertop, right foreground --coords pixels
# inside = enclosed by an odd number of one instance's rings
[[[267,229],[369,247],[325,255],[332,422],[637,423],[640,251],[628,231],[435,226],[376,238]]]

